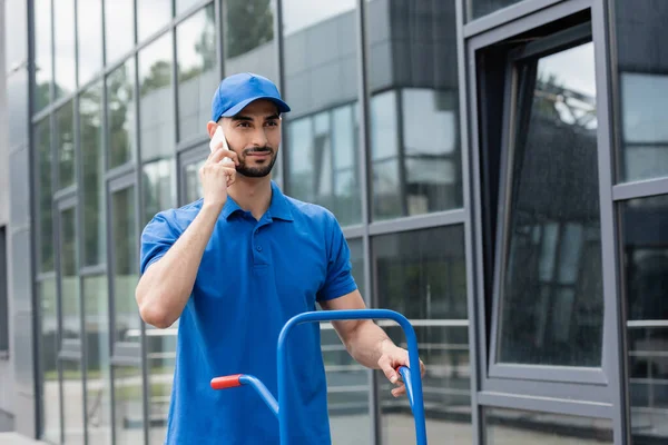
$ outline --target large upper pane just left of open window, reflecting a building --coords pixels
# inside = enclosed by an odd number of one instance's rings
[[[460,208],[455,2],[369,9],[372,218]]]

